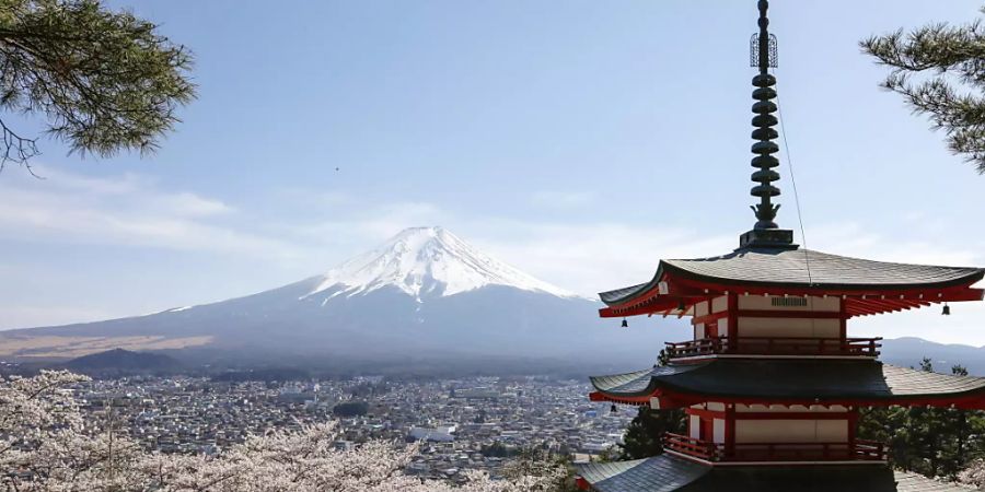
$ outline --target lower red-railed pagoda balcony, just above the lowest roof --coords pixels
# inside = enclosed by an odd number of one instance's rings
[[[816,461],[885,461],[887,446],[874,441],[855,443],[723,443],[702,441],[685,435],[665,433],[664,449],[703,461],[741,462],[816,462]]]

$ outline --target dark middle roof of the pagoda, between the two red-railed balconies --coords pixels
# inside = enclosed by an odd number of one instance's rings
[[[662,396],[788,405],[985,405],[985,378],[897,367],[879,361],[714,359],[591,378],[595,400],[645,403]]]

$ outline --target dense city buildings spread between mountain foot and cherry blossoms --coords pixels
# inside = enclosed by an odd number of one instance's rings
[[[549,377],[474,377],[389,383],[379,377],[316,382],[223,382],[205,377],[128,377],[74,388],[94,431],[127,433],[147,449],[221,453],[248,435],[338,420],[345,450],[371,438],[422,441],[407,472],[462,480],[497,476],[524,448],[598,455],[635,415],[586,402],[589,386]],[[336,415],[347,402],[366,413]],[[360,406],[361,407],[361,406]],[[430,432],[428,432],[430,431]]]

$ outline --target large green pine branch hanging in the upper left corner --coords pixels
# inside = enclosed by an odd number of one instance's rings
[[[71,152],[157,149],[195,97],[192,55],[158,26],[100,0],[0,0],[0,110],[45,118]],[[0,168],[27,165],[36,138],[0,119]]]

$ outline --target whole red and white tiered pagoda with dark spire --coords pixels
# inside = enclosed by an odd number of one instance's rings
[[[836,256],[793,244],[776,220],[776,38],[767,0],[751,43],[754,227],[711,258],[662,260],[648,282],[600,294],[602,317],[691,317],[692,340],[668,343],[668,363],[591,378],[592,401],[683,409],[686,435],[662,455],[579,465],[599,492],[957,491],[892,470],[881,443],[856,435],[860,407],[985,409],[985,378],[895,367],[880,338],[848,336],[848,320],[982,301],[985,269]]]

